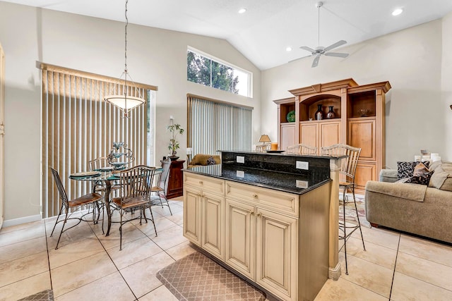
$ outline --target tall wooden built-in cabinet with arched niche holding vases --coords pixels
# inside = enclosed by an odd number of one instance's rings
[[[385,166],[385,94],[390,89],[389,82],[358,85],[349,78],[290,90],[294,97],[274,101],[280,149],[304,143],[318,147],[320,154],[321,147],[336,143],[360,147],[355,183],[364,191]],[[323,119],[316,120],[319,105]],[[335,117],[327,119],[330,106]],[[295,121],[287,121],[290,111],[295,111]]]

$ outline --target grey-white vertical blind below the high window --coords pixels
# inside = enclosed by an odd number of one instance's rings
[[[218,150],[250,151],[253,140],[253,110],[189,95],[188,143],[193,154]]]

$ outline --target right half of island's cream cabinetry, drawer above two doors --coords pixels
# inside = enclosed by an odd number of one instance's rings
[[[226,181],[225,262],[282,300],[297,300],[297,203],[286,192]]]

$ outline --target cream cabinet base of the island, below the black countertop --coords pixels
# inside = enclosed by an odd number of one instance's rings
[[[295,195],[185,172],[184,236],[281,300],[313,300],[328,278],[329,195],[329,184]]]

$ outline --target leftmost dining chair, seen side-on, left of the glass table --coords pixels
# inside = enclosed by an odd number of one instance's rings
[[[77,197],[76,199],[69,199],[66,194],[66,190],[64,189],[63,183],[61,183],[61,178],[59,177],[58,171],[54,170],[54,168],[52,168],[52,167],[50,169],[52,169],[52,175],[54,177],[55,184],[57,184],[59,198],[61,199],[61,208],[59,209],[57,221],[55,221],[55,225],[54,225],[54,228],[52,229],[52,233],[50,234],[50,236],[54,235],[54,231],[55,231],[55,227],[57,226],[57,223],[60,223],[61,221],[63,222],[63,226],[61,227],[61,232],[59,233],[57,247],[55,247],[55,250],[57,250],[58,245],[59,245],[59,240],[61,239],[61,234],[63,234],[63,232],[66,232],[69,229],[77,226],[82,221],[89,221],[89,220],[84,219],[84,217],[87,216],[88,214],[90,214],[90,210],[88,210],[88,213],[83,214],[81,217],[71,217],[72,214],[74,213],[74,211],[69,213],[69,209],[78,209],[83,206],[86,207],[86,206],[93,205],[93,220],[91,220],[91,221],[94,221],[95,223],[97,223],[100,218],[100,209],[102,207],[101,202],[100,202],[100,199],[102,199],[102,195],[100,195],[96,192],[92,192],[92,193],[83,195],[81,197]],[[99,213],[97,215],[97,219],[95,219],[94,206],[97,207],[97,212]],[[59,217],[63,213],[63,210],[66,211],[66,215],[64,216],[64,219],[59,220]],[[102,212],[103,212],[103,210],[102,210]],[[66,222],[70,219],[78,219],[78,223],[65,229],[64,226],[66,226]],[[104,216],[102,214],[102,231],[104,228],[103,223],[104,223]]]

